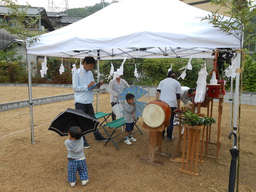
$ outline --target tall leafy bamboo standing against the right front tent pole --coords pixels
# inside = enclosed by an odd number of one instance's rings
[[[255,34],[250,33],[248,35],[247,41],[244,40],[244,34],[247,31],[252,32],[252,28],[250,27],[249,23],[253,20],[253,17],[256,15],[256,9],[254,8],[254,4],[252,0],[214,0],[211,1],[212,4],[216,4],[220,7],[223,7],[227,10],[225,14],[228,14],[230,17],[227,19],[224,16],[219,16],[216,12],[212,12],[202,20],[207,20],[209,23],[212,23],[214,27],[219,27],[220,31],[227,33],[228,35],[233,35],[234,37],[240,40],[240,52],[242,52],[241,57],[241,76],[239,73],[236,79],[236,85],[239,85],[239,77],[240,77],[240,96],[242,94],[242,87],[243,87],[243,70],[245,67],[245,54],[244,54],[244,46],[248,45],[250,41],[255,39]],[[255,75],[255,73],[254,73]],[[238,93],[238,92],[237,92]],[[234,132],[238,134],[238,148],[240,147],[240,102],[235,100],[235,109],[239,109],[238,113],[238,120],[237,120],[237,110],[234,112],[234,122],[233,122],[233,129]],[[237,171],[237,191],[239,186],[239,157],[238,157],[238,171]]]

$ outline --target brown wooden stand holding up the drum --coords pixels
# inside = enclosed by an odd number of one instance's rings
[[[149,130],[149,158],[141,158],[142,163],[162,166],[164,163],[155,160],[155,155],[161,155],[164,157],[170,157],[168,152],[162,151],[162,131],[164,131],[164,125],[156,128],[149,127],[143,122],[142,127]]]

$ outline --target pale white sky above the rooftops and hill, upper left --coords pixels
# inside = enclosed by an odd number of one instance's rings
[[[18,0],[18,4],[30,4],[32,7],[44,7],[48,11],[48,1],[49,0]],[[65,7],[65,0],[50,0],[57,7]],[[100,3],[101,0],[68,0],[68,8],[78,8],[85,6],[93,6],[96,3]],[[112,2],[112,0],[105,0],[105,2]]]

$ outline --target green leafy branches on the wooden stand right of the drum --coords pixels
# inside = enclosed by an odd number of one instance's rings
[[[185,120],[182,124],[194,125],[205,125],[209,126],[215,124],[216,120],[213,117],[200,117],[198,114],[194,114],[192,111],[187,111],[184,114]]]

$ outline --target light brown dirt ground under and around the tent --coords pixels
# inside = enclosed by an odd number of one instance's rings
[[[72,93],[72,88],[33,87],[33,98]],[[1,102],[28,99],[27,87],[0,87]],[[99,110],[110,112],[109,93],[100,94]],[[96,105],[93,105],[96,109]],[[217,117],[218,104],[214,104]],[[48,131],[50,122],[74,101],[62,101],[33,107],[35,142],[31,144],[29,108],[0,112],[0,191],[228,191],[229,166],[232,141],[230,132],[229,104],[224,104],[221,122],[221,147],[219,160],[206,159],[199,163],[199,176],[179,171],[181,164],[167,157],[156,156],[164,166],[140,162],[147,157],[149,131],[139,127],[143,134],[136,133],[137,142],[131,146],[120,142],[120,150],[108,143],[95,142],[92,134],[87,136],[91,145],[85,149],[89,183],[81,185],[78,179],[75,188],[67,183],[67,150],[60,137]],[[202,109],[205,113],[205,109]],[[255,122],[256,106],[242,105],[240,127],[240,178],[239,191],[256,191]],[[103,129],[100,130],[106,137]],[[178,126],[174,127],[175,140],[163,140],[163,151],[173,154],[178,143]],[[211,140],[216,140],[216,125],[212,127]],[[124,135],[121,135],[122,138]],[[210,144],[209,153],[214,155],[216,145]],[[180,156],[180,155],[179,155]]]

